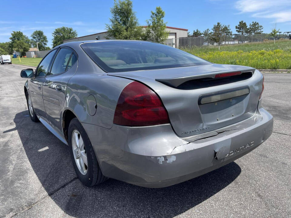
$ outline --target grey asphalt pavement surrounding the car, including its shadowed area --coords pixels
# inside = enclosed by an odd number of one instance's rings
[[[264,74],[273,134],[246,156],[171,187],[88,188],[69,147],[30,120],[24,68],[0,65],[0,217],[291,217],[291,74]]]

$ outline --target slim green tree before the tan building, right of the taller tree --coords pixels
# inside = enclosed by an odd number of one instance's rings
[[[156,7],[156,11],[151,11],[151,18],[147,20],[147,28],[145,30],[146,35],[149,37],[149,41],[157,43],[163,43],[169,36],[169,32],[166,31],[166,24],[164,22],[165,12],[161,7]]]

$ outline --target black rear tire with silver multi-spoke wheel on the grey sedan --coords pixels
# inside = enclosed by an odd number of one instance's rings
[[[99,167],[89,137],[77,118],[70,122],[68,140],[72,163],[79,180],[88,187],[107,180]]]

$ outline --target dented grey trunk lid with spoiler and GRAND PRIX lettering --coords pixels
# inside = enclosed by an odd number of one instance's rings
[[[228,76],[233,72],[234,76]],[[140,81],[152,88],[180,137],[216,130],[251,117],[256,112],[263,82],[262,74],[254,68],[226,64],[108,74]]]

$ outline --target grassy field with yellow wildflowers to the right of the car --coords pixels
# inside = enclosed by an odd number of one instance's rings
[[[192,47],[182,50],[216,64],[245,65],[257,69],[291,69],[291,41],[279,40],[222,45],[218,47]]]

